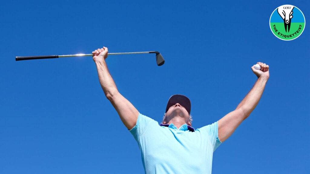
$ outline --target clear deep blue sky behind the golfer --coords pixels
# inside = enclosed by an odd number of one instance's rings
[[[269,19],[298,7],[300,37],[283,41]],[[193,127],[233,111],[264,62],[270,78],[252,112],[215,151],[213,174],[309,173],[310,2],[2,1],[0,173],[144,173],[139,147],[105,98],[90,54],[106,46],[120,93],[160,122],[173,94],[191,99]],[[186,161],[184,161],[186,165]]]

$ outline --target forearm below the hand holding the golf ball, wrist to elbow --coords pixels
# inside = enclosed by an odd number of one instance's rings
[[[266,83],[268,78],[265,76],[260,76],[257,81],[255,82],[253,88],[250,92],[246,95],[246,97],[240,102],[237,106],[236,110],[241,109],[244,113],[244,116],[248,117],[250,113],[255,109],[257,106],[263,91],[265,89]]]

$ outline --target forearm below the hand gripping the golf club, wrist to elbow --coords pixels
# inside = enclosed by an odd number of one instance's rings
[[[111,100],[115,94],[118,93],[115,82],[108,71],[105,61],[96,62],[97,72],[100,85],[104,91],[105,96]]]

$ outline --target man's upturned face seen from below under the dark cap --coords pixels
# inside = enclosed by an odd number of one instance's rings
[[[168,111],[166,112],[166,119],[164,121],[164,124],[169,123],[169,121],[177,115],[181,118],[184,118],[184,123],[191,126],[189,122],[188,112],[186,111],[185,107],[181,106],[179,103],[176,103],[175,105],[169,107]]]

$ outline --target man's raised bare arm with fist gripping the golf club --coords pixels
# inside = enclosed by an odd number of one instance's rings
[[[105,59],[108,57],[108,48],[103,47],[92,52],[93,60],[96,63],[100,85],[105,96],[116,109],[123,124],[129,130],[137,123],[139,112],[138,110],[117,90],[112,76],[108,71]]]

